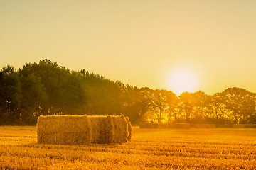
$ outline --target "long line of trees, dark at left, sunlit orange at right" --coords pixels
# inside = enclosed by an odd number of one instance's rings
[[[133,124],[256,123],[256,94],[232,87],[208,95],[176,96],[164,89],[138,88],[85,69],[70,71],[40,60],[0,72],[0,125],[34,125],[39,115],[126,115]]]

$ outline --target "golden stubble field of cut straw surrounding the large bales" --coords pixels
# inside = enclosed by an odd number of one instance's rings
[[[256,169],[256,128],[139,129],[122,145],[39,145],[0,126],[0,169]]]

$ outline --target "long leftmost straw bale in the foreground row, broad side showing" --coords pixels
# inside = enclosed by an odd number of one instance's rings
[[[87,144],[91,141],[91,126],[84,116],[40,116],[38,118],[38,143]]]

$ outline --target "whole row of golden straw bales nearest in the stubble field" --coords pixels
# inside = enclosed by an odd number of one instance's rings
[[[40,116],[37,123],[38,143],[85,145],[122,143],[131,140],[127,119],[121,116],[61,115]],[[132,128],[131,128],[132,129]],[[132,134],[132,130],[130,130]]]

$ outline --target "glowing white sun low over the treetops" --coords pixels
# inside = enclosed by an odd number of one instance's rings
[[[188,69],[177,69],[169,79],[169,86],[177,95],[184,91],[192,92],[196,88],[196,84],[195,74]]]

